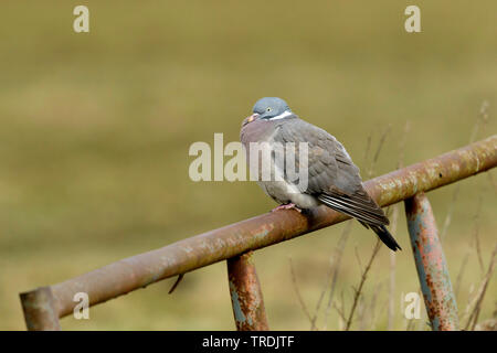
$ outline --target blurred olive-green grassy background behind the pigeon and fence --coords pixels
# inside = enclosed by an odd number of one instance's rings
[[[274,207],[255,183],[188,176],[190,145],[212,143],[214,132],[223,132],[225,143],[239,140],[242,119],[263,96],[285,98],[335,135],[364,179],[368,139],[376,149],[389,125],[374,174],[396,168],[406,121],[405,164],[467,145],[484,100],[489,121],[478,138],[495,133],[497,3],[415,1],[422,32],[410,34],[404,9],[412,3],[2,1],[0,329],[25,328],[21,291]],[[89,33],[73,31],[77,4],[89,8]],[[459,185],[444,249],[453,284],[469,254],[457,297],[463,313],[484,275],[472,239],[478,228],[486,270],[497,205],[488,175]],[[429,194],[440,228],[454,190]],[[406,328],[402,293],[419,289],[402,210],[395,330]],[[288,258],[314,312],[342,228],[255,254],[272,329],[309,329]],[[353,224],[335,296],[341,306],[342,295],[347,312],[360,280],[357,257],[363,266],[374,243]],[[364,286],[363,319],[352,329],[388,328],[389,261],[383,247]],[[168,296],[173,280],[91,308],[91,320],[65,318],[62,328],[234,329],[225,264],[188,274]],[[494,280],[479,321],[495,314],[495,298]],[[425,320],[414,329],[426,329]],[[335,309],[326,328],[340,328]]]

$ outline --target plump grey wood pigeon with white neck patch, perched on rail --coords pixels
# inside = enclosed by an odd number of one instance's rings
[[[295,164],[299,167],[298,146],[299,142],[307,143],[305,189],[295,179],[288,178],[289,163],[283,164],[284,167],[276,171],[282,176],[279,179],[274,179],[275,171],[272,171],[271,180],[257,178],[257,183],[264,192],[281,204],[275,210],[300,211],[325,204],[355,217],[364,227],[374,231],[390,249],[401,249],[385,227],[390,223],[389,220],[363,188],[359,168],[353,164],[343,146],[327,131],[293,114],[285,100],[277,97],[257,100],[253,114],[243,120],[240,136],[250,163],[251,145],[262,146],[261,150],[269,149],[266,152],[269,152],[273,162],[274,146],[283,145],[295,148]],[[260,152],[256,153],[258,160]]]

